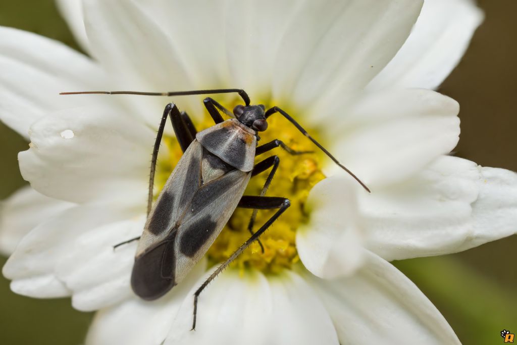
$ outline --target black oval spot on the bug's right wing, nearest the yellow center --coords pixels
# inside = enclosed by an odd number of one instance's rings
[[[216,230],[217,223],[210,215],[194,221],[181,235],[179,249],[181,253],[192,258],[206,244]]]

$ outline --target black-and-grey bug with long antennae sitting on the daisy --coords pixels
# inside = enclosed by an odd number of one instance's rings
[[[293,117],[279,107],[272,107],[266,111],[262,104],[250,105],[250,98],[242,89],[167,93],[93,91],[62,94],[186,96],[222,93],[238,93],[245,105],[237,105],[233,112],[230,112],[214,99],[205,98],[204,105],[215,125],[201,132],[196,131],[188,114],[180,112],[175,104],[169,103],[165,106],[151,158],[148,217],[144,231],[142,236],[115,246],[140,240],[131,274],[131,286],[134,293],[141,298],[157,299],[182,281],[192,267],[203,258],[235,208],[254,209],[248,226],[251,233],[248,241],[237,248],[194,293],[192,329],[195,329],[197,300],[201,292],[243,250],[258,240],[258,237],[291,205],[286,198],[264,196],[279,166],[278,156],[270,156],[257,164],[254,164],[255,157],[279,146],[292,155],[308,152],[295,151],[278,139],[257,146],[260,140],[258,132],[267,129],[269,116],[275,113],[284,116],[336,164],[351,174],[364,189],[370,191],[357,176],[313,139]],[[230,119],[225,121],[221,113],[229,116]],[[171,118],[176,138],[184,154],[153,205],[156,161],[168,117]],[[243,196],[250,178],[268,169],[271,170],[261,195]],[[260,229],[253,232],[253,223],[258,209],[278,211]]]

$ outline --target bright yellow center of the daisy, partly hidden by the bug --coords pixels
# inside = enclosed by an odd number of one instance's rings
[[[202,130],[213,124],[211,118],[207,118],[202,124],[196,124],[196,128]],[[277,155],[280,158],[278,170],[266,192],[266,196],[287,198],[291,201],[291,207],[260,237],[264,252],[262,252],[260,244],[255,241],[240,254],[233,264],[241,270],[256,268],[265,273],[279,273],[282,269],[291,268],[299,260],[295,235],[300,223],[307,221],[303,206],[311,188],[325,178],[325,175],[318,166],[318,158],[321,157],[318,148],[290,122],[280,114],[275,114],[268,118],[268,125],[266,131],[259,133],[261,140],[257,145],[279,139],[296,151],[314,151],[314,153],[291,155],[278,147],[255,158],[255,164],[272,155]],[[314,136],[314,134],[317,133],[311,132],[311,135]],[[315,137],[317,138],[317,135]],[[170,154],[167,159],[158,161],[155,184],[159,187],[156,189],[157,192],[162,189],[182,155],[175,138],[164,136],[163,141],[168,146]],[[244,194],[260,195],[270,171],[271,169],[268,169],[251,178]],[[276,209],[259,210],[253,231],[258,230],[276,211]],[[250,237],[248,223],[252,212],[253,210],[245,208],[235,210],[230,221],[208,250],[208,259],[212,263],[226,260]]]

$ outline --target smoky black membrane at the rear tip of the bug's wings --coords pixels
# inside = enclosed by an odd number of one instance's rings
[[[136,295],[151,301],[171,290],[175,285],[176,231],[155,248],[136,257],[131,273],[131,287]]]

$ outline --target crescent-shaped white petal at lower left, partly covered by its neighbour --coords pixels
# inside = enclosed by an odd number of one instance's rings
[[[74,206],[39,224],[22,239],[3,268],[4,276],[13,280],[13,291],[32,297],[68,295],[64,284],[57,284],[57,265],[79,235],[128,217],[128,211],[121,207],[117,209],[112,204]]]

